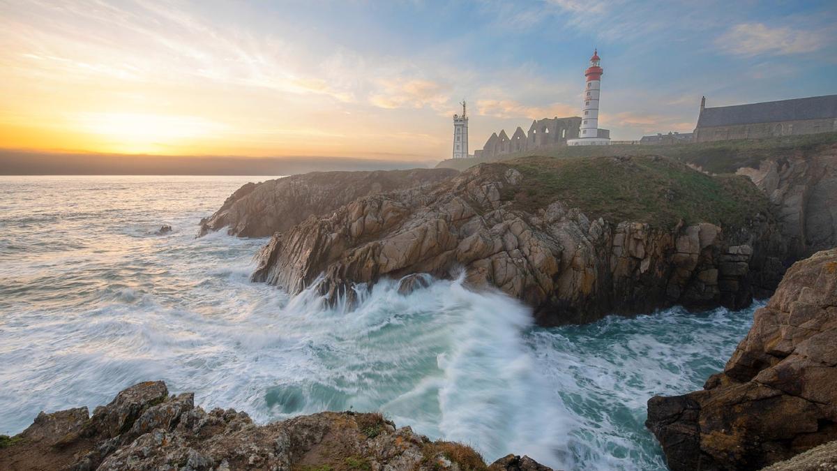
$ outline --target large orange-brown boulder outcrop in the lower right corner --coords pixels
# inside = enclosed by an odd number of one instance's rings
[[[837,440],[837,249],[798,261],[703,391],[655,396],[669,467],[758,469]]]

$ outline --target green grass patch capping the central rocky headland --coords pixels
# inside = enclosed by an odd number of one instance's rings
[[[660,156],[594,158],[517,158],[505,164],[523,175],[506,187],[503,199],[535,212],[554,201],[578,207],[591,218],[671,227],[711,222],[741,227],[768,199],[742,176],[710,176]]]

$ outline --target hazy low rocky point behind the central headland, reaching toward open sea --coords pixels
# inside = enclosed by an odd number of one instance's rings
[[[221,209],[201,220],[198,235],[227,227],[231,235],[267,237],[363,196],[435,184],[456,173],[447,168],[313,172],[249,183],[224,201]]]

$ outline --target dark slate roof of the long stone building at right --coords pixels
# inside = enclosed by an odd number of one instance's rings
[[[697,119],[697,127],[827,118],[837,118],[837,95],[705,108]]]

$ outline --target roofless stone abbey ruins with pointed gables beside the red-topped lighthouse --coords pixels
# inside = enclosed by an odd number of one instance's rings
[[[506,153],[525,152],[537,148],[551,148],[567,144],[567,139],[578,137],[581,118],[578,116],[565,118],[544,118],[531,122],[528,132],[517,127],[509,137],[506,130],[498,134],[493,132],[485,141],[481,151],[475,151],[474,157],[492,158]]]

